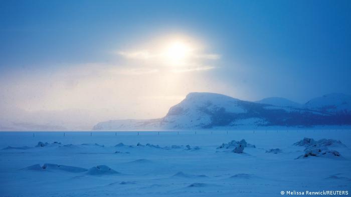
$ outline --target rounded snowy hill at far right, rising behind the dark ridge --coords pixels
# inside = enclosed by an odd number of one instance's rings
[[[306,108],[331,113],[351,114],[351,95],[330,93],[306,102]]]

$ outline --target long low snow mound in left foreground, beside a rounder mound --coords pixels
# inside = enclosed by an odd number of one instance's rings
[[[43,166],[40,166],[40,164],[34,164],[34,165],[28,166],[24,169],[29,169],[29,170],[62,170],[62,171],[74,172],[74,173],[88,171],[88,169],[83,168],[83,167],[75,167],[75,166],[70,166],[70,165],[59,165],[59,164],[53,164],[53,163],[45,163]]]

